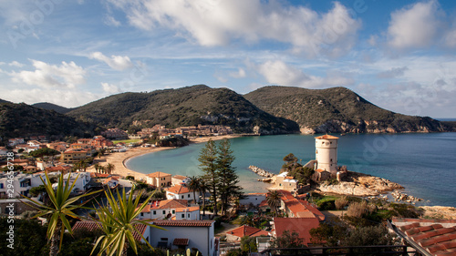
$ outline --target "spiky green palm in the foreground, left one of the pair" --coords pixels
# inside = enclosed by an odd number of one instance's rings
[[[31,201],[33,204],[28,204],[26,202],[24,203],[39,211],[39,213],[36,214],[36,216],[34,216],[33,218],[41,216],[48,217],[47,240],[51,241],[51,246],[49,250],[50,256],[57,255],[58,251],[60,251],[62,247],[62,240],[65,230],[68,230],[70,234],[73,234],[73,230],[69,225],[67,217],[78,219],[80,217],[77,214],[75,214],[73,210],[78,210],[79,208],[90,209],[82,207],[82,205],[85,204],[87,201],[82,203],[81,205],[76,205],[74,203],[78,202],[83,197],[87,197],[91,194],[98,193],[99,191],[101,191],[97,190],[77,197],[69,198],[69,194],[71,193],[71,190],[73,190],[73,188],[75,187],[76,180],[78,179],[77,177],[73,181],[73,183],[70,184],[70,177],[71,176],[68,175],[67,181],[64,182],[63,175],[59,175],[57,180],[57,190],[54,190],[52,188],[52,183],[49,177],[47,176],[47,173],[46,181],[42,177],[40,177],[41,181],[43,182],[43,185],[45,186],[49,200],[51,201],[50,206],[43,205],[37,202],[36,200],[32,200],[23,195],[23,197],[26,198],[26,200]]]

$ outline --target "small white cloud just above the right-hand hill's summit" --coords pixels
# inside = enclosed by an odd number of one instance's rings
[[[268,83],[287,87],[343,87],[354,83],[351,77],[328,74],[326,77],[310,76],[301,69],[289,66],[281,60],[267,61],[256,67]]]

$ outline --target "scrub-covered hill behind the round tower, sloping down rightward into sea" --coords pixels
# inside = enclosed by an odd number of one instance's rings
[[[430,132],[451,130],[432,118],[378,108],[345,87],[262,87],[244,97],[255,106],[295,121],[303,133]]]

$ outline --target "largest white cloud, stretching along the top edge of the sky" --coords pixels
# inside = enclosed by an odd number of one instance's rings
[[[346,54],[355,43],[360,21],[335,2],[327,13],[305,6],[260,0],[108,0],[123,10],[132,26],[164,26],[202,46],[225,46],[235,39],[274,40],[307,55]]]

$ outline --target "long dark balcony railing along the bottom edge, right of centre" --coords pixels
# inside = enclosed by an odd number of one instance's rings
[[[405,245],[376,245],[376,246],[346,246],[346,247],[308,247],[308,248],[278,248],[259,252],[263,256],[292,256],[292,255],[403,255],[410,256],[416,251],[408,251]]]

